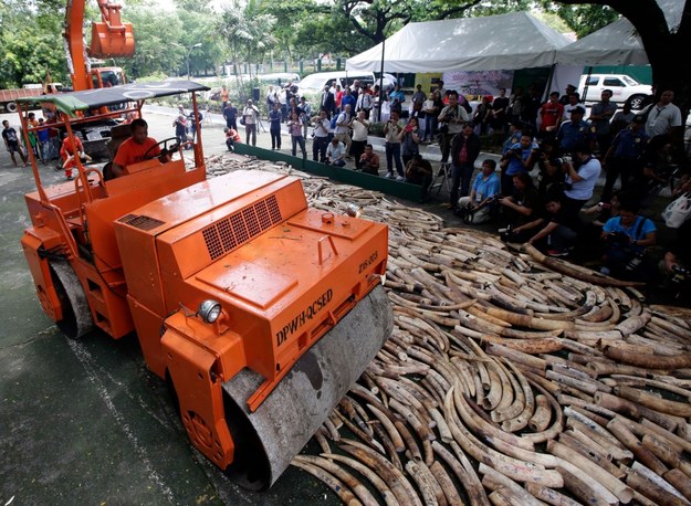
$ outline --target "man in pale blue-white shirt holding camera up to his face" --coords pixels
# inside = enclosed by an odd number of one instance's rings
[[[564,199],[562,207],[564,212],[578,215],[580,208],[593,197],[593,189],[600,176],[600,162],[590,154],[590,146],[579,145],[574,150],[573,161],[562,159],[564,171]]]

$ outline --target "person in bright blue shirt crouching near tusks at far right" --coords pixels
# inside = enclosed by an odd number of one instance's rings
[[[605,255],[600,272],[615,277],[648,282],[652,278],[646,247],[656,243],[656,226],[648,218],[638,215],[638,207],[630,198],[622,198],[619,215],[603,226]]]

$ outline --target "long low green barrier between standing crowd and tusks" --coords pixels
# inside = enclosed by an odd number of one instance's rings
[[[318,161],[303,159],[284,152],[272,151],[270,149],[258,148],[243,143],[235,143],[235,152],[239,155],[254,156],[262,160],[285,161],[295,169],[304,172],[327,177],[335,181],[365,188],[367,190],[380,191],[389,196],[412,200],[415,202],[422,201],[425,197],[422,187],[418,185],[409,185],[407,182],[395,181],[379,176],[356,172],[353,169],[320,164]]]

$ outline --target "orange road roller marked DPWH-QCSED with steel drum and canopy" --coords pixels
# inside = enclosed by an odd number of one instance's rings
[[[69,136],[122,102],[209,88],[127,84],[36,97]],[[31,99],[20,99],[22,115]],[[108,115],[119,114],[111,112]],[[118,129],[114,129],[114,143]],[[148,368],[174,393],[191,443],[243,485],[273,484],[379,350],[392,328],[388,229],[307,207],[301,180],[235,171],[207,180],[201,131],[106,180],[75,160],[74,181],[25,196],[21,240],[45,314],[69,337],[95,326],[135,331]],[[113,152],[116,146],[111,146]],[[188,167],[186,167],[186,162]]]

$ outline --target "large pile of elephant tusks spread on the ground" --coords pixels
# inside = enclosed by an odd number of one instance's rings
[[[394,333],[293,465],[348,505],[691,504],[691,317],[634,286],[262,160],[389,225]]]

